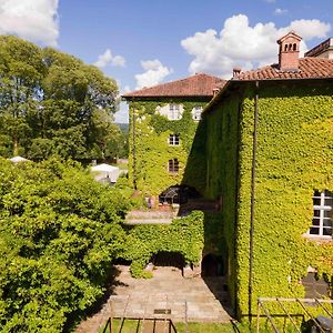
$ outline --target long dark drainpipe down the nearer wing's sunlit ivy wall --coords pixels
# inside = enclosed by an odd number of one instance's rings
[[[253,145],[252,145],[252,175],[251,175],[251,215],[250,215],[250,258],[249,258],[249,315],[252,321],[252,282],[253,282],[253,233],[254,233],[254,196],[255,196],[255,161],[258,140],[258,101],[259,81],[255,81],[254,94],[254,123],[253,123]]]

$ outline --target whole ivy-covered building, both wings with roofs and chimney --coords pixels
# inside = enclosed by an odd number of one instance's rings
[[[300,42],[290,32],[278,63],[228,82],[196,74],[124,95],[134,188],[222,199],[200,251],[222,255],[238,317],[259,296],[332,296],[332,39],[304,58]]]

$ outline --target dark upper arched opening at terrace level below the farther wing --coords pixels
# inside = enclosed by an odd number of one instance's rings
[[[172,185],[164,190],[159,195],[159,203],[161,204],[182,204],[186,203],[189,199],[199,198],[199,192],[191,186],[188,185]]]

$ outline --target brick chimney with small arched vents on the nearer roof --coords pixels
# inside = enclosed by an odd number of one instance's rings
[[[281,71],[299,71],[300,42],[302,38],[294,31],[289,32],[278,40],[279,69]]]

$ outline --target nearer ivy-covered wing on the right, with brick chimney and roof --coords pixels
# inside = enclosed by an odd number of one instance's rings
[[[332,297],[333,60],[327,42],[300,59],[300,41],[290,32],[278,63],[234,70],[203,112],[204,195],[222,195],[239,316],[259,296]]]

